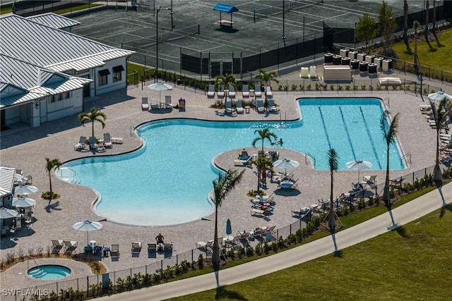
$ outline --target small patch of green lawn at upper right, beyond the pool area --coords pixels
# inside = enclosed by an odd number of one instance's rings
[[[430,49],[429,44],[425,42],[423,35],[418,38],[417,56],[419,56],[420,64],[422,66],[429,66],[452,72],[452,30],[441,30],[439,43],[441,45],[436,44],[435,40],[433,42],[430,42],[430,46],[432,47],[432,49]],[[407,47],[403,42],[394,45],[394,50],[398,52],[401,60],[414,63],[414,42],[410,43],[410,49],[411,51],[408,52]]]

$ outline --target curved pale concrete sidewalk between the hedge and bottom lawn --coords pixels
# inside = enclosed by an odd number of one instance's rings
[[[414,221],[430,212],[439,209],[452,201],[452,183],[443,188],[433,190],[408,204],[404,204],[391,212],[386,212],[374,219],[360,223],[352,228],[347,228],[335,235],[328,235],[307,245],[295,247],[291,250],[280,252],[254,262],[234,266],[219,272],[218,282],[214,273],[203,276],[164,283],[161,285],[120,293],[109,297],[101,297],[98,300],[162,300],[181,295],[189,295],[204,290],[217,288],[218,285],[230,285],[240,281],[246,281],[274,271],[295,266],[311,259],[322,257],[337,250],[355,245],[364,240],[369,240],[377,235],[391,231],[399,226]]]

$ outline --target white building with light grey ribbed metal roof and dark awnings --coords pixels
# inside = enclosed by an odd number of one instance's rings
[[[2,126],[36,127],[84,111],[86,97],[126,87],[135,52],[74,35],[73,25],[53,13],[0,17]]]

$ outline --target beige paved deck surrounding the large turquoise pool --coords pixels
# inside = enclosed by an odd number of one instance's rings
[[[298,73],[297,73],[298,74]],[[293,76],[293,75],[292,75]],[[148,85],[150,82],[147,83]],[[450,87],[448,87],[450,90]],[[1,238],[1,258],[5,258],[8,252],[14,250],[24,250],[25,253],[30,248],[37,249],[43,247],[44,252],[47,246],[52,245],[51,240],[78,240],[78,252],[83,250],[86,241],[86,233],[75,231],[72,225],[78,221],[87,219],[100,221],[104,218],[96,216],[91,205],[96,199],[95,192],[90,188],[81,185],[66,183],[57,177],[52,177],[52,188],[54,192],[61,195],[60,199],[53,200],[50,204],[40,199],[40,193],[49,190],[49,178],[44,169],[44,158],[59,158],[61,161],[69,161],[84,156],[105,156],[129,152],[141,146],[141,140],[137,135],[130,135],[131,127],[136,127],[147,121],[155,121],[164,118],[200,118],[212,121],[280,121],[295,120],[298,116],[297,104],[295,99],[298,97],[389,97],[390,106],[388,110],[392,114],[400,112],[398,139],[400,141],[403,153],[411,154],[412,164],[400,171],[391,171],[391,178],[398,178],[413,171],[432,166],[435,155],[435,135],[434,130],[429,127],[425,121],[425,115],[420,113],[419,105],[422,99],[413,93],[393,92],[393,91],[359,91],[359,92],[273,92],[275,102],[280,105],[280,113],[257,113],[251,110],[251,113],[237,115],[224,114],[221,109],[209,109],[213,104],[213,99],[208,99],[205,92],[184,87],[175,87],[174,90],[162,94],[172,96],[172,103],[176,104],[180,97],[186,99],[186,111],[173,109],[172,111],[161,109],[156,111],[142,111],[141,97],[158,98],[156,92],[148,90],[146,87],[142,90],[141,86],[129,87],[127,90],[102,94],[91,102],[85,103],[85,111],[91,106],[96,106],[107,114],[105,129],[99,123],[95,124],[95,134],[101,136],[102,133],[110,133],[112,137],[123,137],[124,143],[114,144],[112,149],[106,152],[93,154],[91,152],[75,152],[74,145],[77,144],[80,136],[90,136],[91,125],[82,127],[77,120],[77,116],[61,118],[57,121],[43,123],[39,128],[13,128],[1,133],[1,165],[20,168],[23,175],[32,175],[32,185],[40,190],[31,198],[37,201],[35,206],[35,221],[32,229],[22,229],[18,232],[18,239],[13,240],[12,236]],[[237,92],[236,99],[241,99],[242,95]],[[215,97],[216,99],[216,97]],[[379,126],[379,125],[377,125]],[[376,137],[377,139],[382,137]],[[302,139],[302,137],[300,137]],[[206,146],[203,146],[206,147]],[[245,146],[246,147],[246,146]],[[227,148],[227,147],[225,147]],[[249,153],[258,151],[250,145],[246,147]],[[268,150],[269,148],[266,147]],[[228,152],[220,154],[215,159],[215,164],[221,168],[234,167],[233,160],[237,157],[239,149],[231,149]],[[250,215],[251,203],[246,192],[256,189],[257,180],[254,171],[256,168],[244,168],[245,174],[242,183],[237,185],[230,195],[227,196],[222,207],[218,211],[219,233],[225,233],[226,221],[229,218],[232,221],[233,234],[237,231],[248,231],[258,226],[276,226],[280,228],[292,223],[296,219],[292,217],[291,209],[316,204],[318,199],[328,199],[330,194],[330,175],[329,171],[315,171],[309,164],[305,164],[304,155],[293,152],[290,149],[278,147],[280,159],[288,157],[299,161],[299,168],[294,170],[294,178],[299,178],[298,190],[292,192],[276,192],[274,214],[266,218]],[[325,149],[327,155],[328,149]],[[377,183],[383,183],[385,171],[362,171],[361,175],[377,175]],[[268,179],[269,180],[269,179]],[[335,173],[334,195],[340,195],[341,192],[347,192],[351,188],[351,183],[356,182],[357,171],[337,171]],[[184,185],[189,185],[189,179],[186,183],[179,183],[175,189],[183,189]],[[133,189],[133,179],[125,185]],[[383,188],[379,185],[379,190]],[[276,190],[277,184],[269,183],[266,190],[271,194]],[[112,261],[109,258],[103,259],[102,264],[107,271],[117,271],[128,269],[135,266],[143,266],[152,261],[160,260],[148,259],[145,251],[142,251],[140,257],[131,256],[131,242],[141,241],[143,245],[146,242],[154,242],[155,236],[162,233],[167,242],[174,244],[173,254],[186,252],[196,247],[196,242],[213,239],[214,214],[206,216],[206,219],[188,223],[179,226],[169,227],[136,227],[124,226],[109,221],[102,221],[103,228],[100,231],[89,233],[90,240],[96,240],[101,245],[119,244],[121,257],[118,261]],[[133,220],[133,216],[131,216]],[[81,247],[82,246],[82,247]],[[83,269],[77,269],[73,276],[85,276]],[[23,288],[34,285],[32,281],[23,280],[23,275],[18,275],[16,267],[0,274],[1,288],[18,288],[18,283]]]

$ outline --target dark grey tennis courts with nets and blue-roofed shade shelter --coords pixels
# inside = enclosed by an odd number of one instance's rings
[[[420,4],[411,2],[410,10],[415,5],[422,6],[422,1]],[[165,64],[179,63],[181,48],[197,56],[200,56],[198,53],[207,53],[209,59],[230,57],[231,54],[234,58],[242,54],[260,54],[287,47],[300,39],[304,42],[304,39],[321,37],[323,22],[354,27],[364,12],[376,18],[381,6],[381,1],[374,0],[222,1],[239,8],[237,13],[232,14],[234,26],[225,27],[218,23],[220,12],[213,10],[216,1],[173,0],[173,14],[170,13],[169,3],[142,0],[138,1],[136,11],[119,8],[73,17],[81,22],[73,28],[73,32],[114,47],[135,50],[146,57],[146,65],[155,66],[156,13],[157,7],[162,6],[157,13],[158,59],[159,66],[165,68]],[[388,1],[389,5],[394,6],[396,16],[403,14],[401,3]],[[221,18],[230,20],[230,14],[222,13]]]

